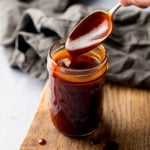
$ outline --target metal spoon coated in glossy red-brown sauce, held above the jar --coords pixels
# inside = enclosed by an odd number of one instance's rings
[[[109,12],[95,11],[83,19],[67,38],[65,48],[68,52],[80,55],[102,43],[112,31],[112,15],[120,6],[118,3]]]

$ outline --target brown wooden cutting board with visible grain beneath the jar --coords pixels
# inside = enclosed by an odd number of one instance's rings
[[[20,150],[102,150],[108,140],[118,143],[119,150],[150,150],[150,90],[106,83],[102,124],[92,136],[74,139],[51,122],[48,85]],[[45,145],[38,143],[41,138]],[[91,144],[92,138],[100,143]]]

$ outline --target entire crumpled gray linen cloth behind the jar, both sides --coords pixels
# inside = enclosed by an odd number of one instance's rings
[[[46,57],[54,41],[66,37],[94,8],[71,0],[1,0],[1,44],[12,67],[47,78]],[[112,34],[103,43],[109,54],[106,79],[150,87],[150,13],[121,11]]]

